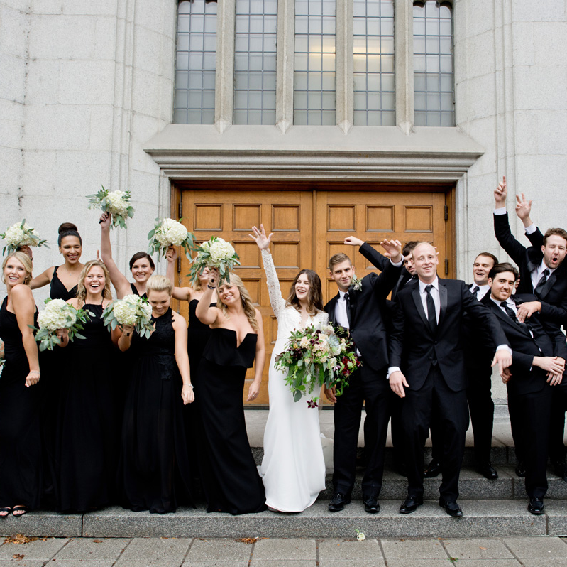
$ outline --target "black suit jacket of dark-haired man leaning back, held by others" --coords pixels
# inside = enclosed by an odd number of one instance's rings
[[[516,294],[511,298],[516,305],[521,305],[525,301],[536,301],[536,296],[531,293]],[[543,369],[533,366],[534,357],[567,357],[565,335],[558,328],[549,329],[546,332],[537,314],[532,315],[526,325],[514,323],[514,320],[490,299],[490,293],[483,297],[482,303],[497,316],[512,347],[512,366],[510,367],[512,378],[507,384],[508,393],[514,396],[540,392],[541,389],[548,386],[547,377]]]

